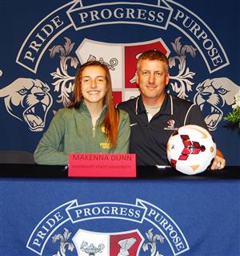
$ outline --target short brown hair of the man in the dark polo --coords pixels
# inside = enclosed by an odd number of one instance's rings
[[[160,60],[163,63],[166,64],[166,72],[169,72],[169,62],[166,58],[166,55],[164,55],[161,51],[158,50],[149,50],[142,52],[142,55],[139,56],[138,62],[137,62],[137,69],[139,70],[140,62],[143,59],[149,59],[149,60]]]

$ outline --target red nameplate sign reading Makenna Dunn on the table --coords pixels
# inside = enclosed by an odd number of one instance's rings
[[[136,177],[136,155],[71,153],[68,176]]]

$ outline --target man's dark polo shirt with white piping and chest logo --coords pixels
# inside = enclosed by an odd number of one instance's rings
[[[177,128],[197,124],[206,128],[197,105],[166,95],[160,111],[148,122],[142,97],[118,104],[130,115],[130,153],[136,153],[137,165],[169,165],[166,144]]]

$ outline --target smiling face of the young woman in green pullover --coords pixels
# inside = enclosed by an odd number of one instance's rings
[[[100,66],[85,67],[82,71],[82,96],[86,104],[103,102],[106,95],[106,71]]]

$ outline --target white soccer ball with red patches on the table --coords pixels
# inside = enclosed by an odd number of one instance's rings
[[[204,172],[216,156],[216,144],[210,133],[198,125],[185,125],[169,138],[166,153],[170,165],[181,173]]]

